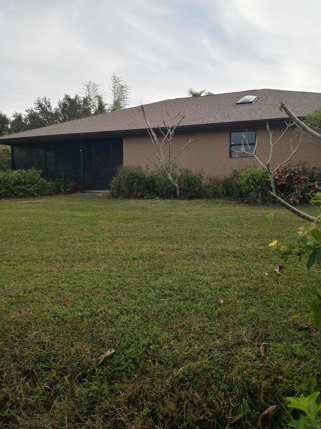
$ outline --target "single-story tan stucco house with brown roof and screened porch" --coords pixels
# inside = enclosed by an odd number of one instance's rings
[[[238,153],[243,134],[256,153],[266,161],[270,151],[268,122],[273,140],[281,135],[288,121],[280,111],[286,104],[299,118],[321,106],[321,94],[281,90],[251,90],[166,100],[145,105],[151,126],[157,129],[168,113],[182,112],[184,120],[177,128],[173,150],[178,151],[187,138],[198,138],[176,158],[178,167],[205,176],[222,176],[233,169],[257,165],[253,157]],[[273,152],[272,163],[290,154],[297,132],[290,128]],[[309,138],[300,145],[292,162],[306,161],[321,167],[320,142]],[[68,177],[85,189],[106,189],[121,164],[138,164],[153,168],[156,161],[145,122],[137,107],[78,119],[0,138],[0,144],[11,145],[13,168],[36,167],[45,177]],[[318,146],[318,147],[317,147]]]

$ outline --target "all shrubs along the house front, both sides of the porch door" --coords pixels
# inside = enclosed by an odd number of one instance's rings
[[[225,177],[204,178],[202,172],[183,168],[175,172],[183,199],[220,198],[245,201],[269,201],[269,177],[262,167],[234,170]],[[306,163],[283,165],[274,174],[276,192],[289,203],[307,202],[321,191],[321,169]],[[83,187],[67,179],[46,181],[41,171],[0,171],[0,197],[32,197],[58,193],[83,192]],[[161,171],[123,165],[111,183],[113,198],[176,198],[176,189]]]

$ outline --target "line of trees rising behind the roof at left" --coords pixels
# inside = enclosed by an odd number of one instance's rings
[[[93,81],[83,82],[83,88],[74,96],[64,94],[54,107],[50,98],[38,97],[34,106],[25,113],[14,112],[12,118],[0,111],[0,135],[19,133],[21,131],[46,127],[74,119],[86,118],[101,113],[124,109],[129,105],[131,89],[115,74],[109,85],[109,99],[102,85]]]

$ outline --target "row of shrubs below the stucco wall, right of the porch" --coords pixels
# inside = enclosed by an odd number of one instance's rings
[[[207,177],[184,168],[174,174],[183,199],[220,198],[253,202],[269,201],[270,181],[262,167],[233,170],[225,177]],[[275,175],[279,196],[289,203],[307,202],[321,191],[321,170],[309,168],[304,162],[284,165]],[[113,198],[176,198],[175,187],[161,171],[143,170],[140,166],[123,165],[111,183]]]

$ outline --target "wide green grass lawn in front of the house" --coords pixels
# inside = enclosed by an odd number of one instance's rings
[[[251,428],[275,404],[262,427],[286,427],[283,397],[321,387],[320,334],[294,325],[320,273],[290,259],[277,276],[268,243],[303,222],[229,201],[0,202],[0,427]]]

